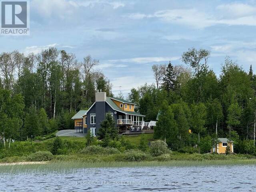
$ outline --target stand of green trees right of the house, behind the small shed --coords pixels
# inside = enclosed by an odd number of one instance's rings
[[[228,138],[234,150],[254,153],[256,75],[226,57],[220,76],[209,67],[211,52],[191,48],[181,60],[185,65],[154,64],[155,84],[132,88],[128,99],[145,120],[156,119],[154,137],[175,149],[209,152],[216,138]],[[192,134],[189,133],[192,130]]]

